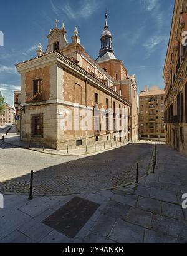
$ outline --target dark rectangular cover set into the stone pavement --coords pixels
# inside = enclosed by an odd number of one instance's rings
[[[74,197],[42,223],[67,237],[74,238],[98,207],[98,203]]]

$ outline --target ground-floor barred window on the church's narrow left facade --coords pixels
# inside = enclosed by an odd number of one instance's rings
[[[43,115],[31,115],[32,136],[43,136]]]

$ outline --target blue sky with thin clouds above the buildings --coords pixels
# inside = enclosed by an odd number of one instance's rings
[[[14,64],[36,56],[39,42],[46,50],[47,34],[55,19],[65,23],[67,39],[75,26],[80,43],[94,59],[108,10],[113,48],[129,74],[136,74],[138,91],[145,86],[163,87],[165,61],[174,0],[9,0],[1,3],[0,91],[13,104],[20,78]]]

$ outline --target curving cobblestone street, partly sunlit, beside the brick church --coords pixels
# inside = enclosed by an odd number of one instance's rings
[[[1,142],[0,192],[29,193],[34,170],[34,195],[64,195],[95,192],[135,180],[150,165],[153,145],[132,144],[98,155],[54,156],[12,147]]]

